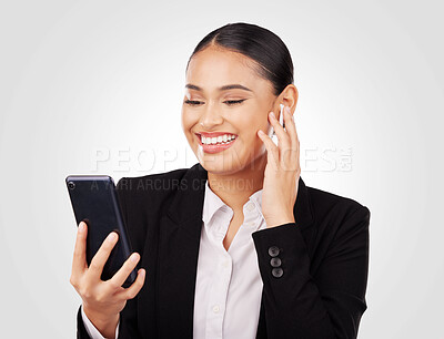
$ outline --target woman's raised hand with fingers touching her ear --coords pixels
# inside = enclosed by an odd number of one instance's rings
[[[290,107],[285,106],[283,114],[286,131],[274,113],[269,113],[279,138],[278,146],[263,131],[258,131],[268,153],[262,193],[262,214],[268,227],[295,222],[293,208],[301,175],[299,138]]]

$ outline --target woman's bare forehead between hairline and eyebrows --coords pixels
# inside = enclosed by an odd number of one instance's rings
[[[210,47],[190,60],[186,82],[210,91],[231,83],[252,90],[271,90],[271,82],[260,76],[258,69],[258,63],[246,55]]]

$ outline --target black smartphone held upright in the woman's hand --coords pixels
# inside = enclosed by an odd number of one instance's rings
[[[119,234],[119,240],[101,275],[102,280],[108,280],[122,267],[132,253],[114,181],[108,175],[69,175],[65,183],[77,226],[80,222],[88,225],[88,266],[107,236],[113,230]],[[137,269],[138,267],[131,271],[122,285],[123,287],[129,287],[135,280]]]

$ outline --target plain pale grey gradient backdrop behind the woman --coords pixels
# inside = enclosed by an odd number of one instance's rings
[[[74,337],[64,177],[196,163],[180,123],[184,68],[236,21],[291,51],[306,184],[372,212],[360,338],[444,338],[442,12],[428,0],[2,1],[2,338]]]

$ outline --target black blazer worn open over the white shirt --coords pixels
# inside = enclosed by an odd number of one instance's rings
[[[119,181],[131,245],[147,269],[121,311],[119,338],[192,338],[206,179],[196,163]],[[356,338],[366,309],[369,208],[300,178],[294,217],[252,234],[263,281],[256,338]],[[89,338],[80,307],[77,319],[78,338]]]

